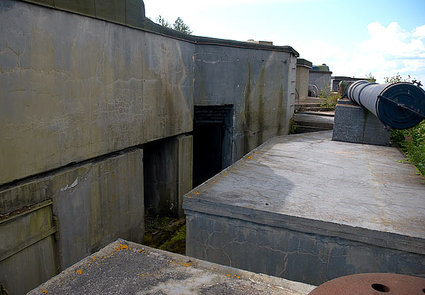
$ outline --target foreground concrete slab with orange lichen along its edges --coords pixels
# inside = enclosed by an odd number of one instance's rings
[[[28,294],[282,294],[314,286],[118,240]]]

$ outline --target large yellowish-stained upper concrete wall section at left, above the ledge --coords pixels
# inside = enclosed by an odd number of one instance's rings
[[[191,131],[192,43],[1,6],[0,184]]]

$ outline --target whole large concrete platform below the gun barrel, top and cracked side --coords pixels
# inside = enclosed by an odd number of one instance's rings
[[[274,137],[189,192],[186,254],[320,284],[425,277],[425,185],[394,147]]]

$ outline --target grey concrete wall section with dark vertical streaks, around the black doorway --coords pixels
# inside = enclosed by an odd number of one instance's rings
[[[290,52],[198,45],[195,105],[234,105],[233,161],[267,139],[288,134],[295,100]]]

